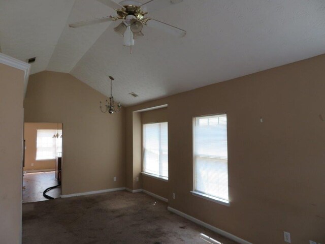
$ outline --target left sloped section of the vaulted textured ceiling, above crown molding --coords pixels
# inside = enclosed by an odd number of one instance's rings
[[[2,52],[26,62],[31,74],[44,71],[67,24],[74,0],[0,0]]]

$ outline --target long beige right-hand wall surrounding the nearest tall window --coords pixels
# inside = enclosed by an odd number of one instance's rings
[[[325,122],[319,118],[325,118],[324,65],[320,55],[128,107],[126,174],[137,174],[129,172],[137,168],[129,148],[131,114],[168,104],[169,206],[252,243],[284,243],[283,231],[291,233],[292,243],[324,243]],[[223,112],[230,207],[190,193],[192,117]]]

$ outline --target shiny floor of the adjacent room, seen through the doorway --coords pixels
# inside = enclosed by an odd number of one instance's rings
[[[23,176],[22,200],[23,202],[48,200],[43,196],[44,190],[56,185],[57,181],[55,180],[54,171],[25,173]],[[58,198],[61,195],[61,188],[55,188],[49,191],[47,195]]]

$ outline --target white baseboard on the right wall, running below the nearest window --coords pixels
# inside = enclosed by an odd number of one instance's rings
[[[217,227],[214,227],[214,226],[209,225],[209,224],[207,224],[207,223],[205,223],[205,222],[203,222],[201,220],[198,220],[198,219],[196,219],[194,217],[191,217],[189,215],[186,215],[186,214],[184,214],[184,212],[181,212],[181,211],[179,211],[179,210],[177,210],[175,208],[167,207],[167,209],[169,211],[171,211],[171,212],[174,212],[174,214],[176,214],[176,215],[182,216],[185,219],[188,219],[188,220],[190,220],[190,221],[192,221],[194,223],[197,223],[198,225],[201,225],[201,226],[203,226],[203,227],[205,227],[205,228],[207,228],[209,230],[212,230],[213,232],[216,232],[216,233],[218,233],[220,235],[223,235],[225,237],[228,237],[231,240],[237,241],[240,244],[252,244],[251,242],[248,242],[247,240],[244,240],[244,239],[242,239],[242,238],[240,238],[240,237],[238,237],[236,235],[233,235],[231,233],[228,233],[228,232],[226,232],[224,230],[220,230]]]

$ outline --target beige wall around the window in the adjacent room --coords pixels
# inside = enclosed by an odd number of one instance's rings
[[[55,159],[36,160],[37,130],[62,129],[61,123],[24,123],[25,167],[28,170],[55,169]]]

